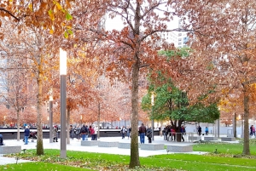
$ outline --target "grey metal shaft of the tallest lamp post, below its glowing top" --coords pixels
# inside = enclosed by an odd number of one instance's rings
[[[61,75],[61,158],[67,158],[66,108],[66,75]]]

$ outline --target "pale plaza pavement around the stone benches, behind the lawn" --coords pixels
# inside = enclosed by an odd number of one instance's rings
[[[90,140],[90,138],[89,138]],[[121,137],[102,137],[99,140],[101,141],[119,141],[119,142],[131,142],[131,139],[122,139]],[[139,140],[139,137],[138,137]],[[61,149],[61,143],[60,140],[55,143],[49,143],[49,139],[44,139],[44,149]],[[37,142],[34,140],[34,142],[31,142],[29,140],[28,145],[24,145],[24,142],[22,140],[3,140],[3,143],[5,145],[21,145],[21,150],[23,149],[36,149]],[[145,144],[148,144],[148,140],[146,138]],[[166,141],[164,140],[163,136],[154,136],[153,144],[165,144],[165,145],[192,145],[195,143],[191,142],[173,142],[173,141]],[[67,145],[67,151],[88,151],[88,152],[96,152],[96,153],[108,153],[108,154],[119,154],[119,155],[128,155],[130,156],[131,149],[122,149],[118,147],[98,147],[98,146],[82,146],[81,141],[77,139],[70,140],[70,144]],[[168,152],[168,154],[172,154],[173,152]],[[201,151],[193,151],[193,152],[187,152],[190,154],[204,154],[205,152]],[[148,151],[148,150],[141,150],[139,149],[139,156],[140,157],[148,157],[148,156],[154,156],[154,155],[161,155],[161,154],[167,154],[166,150],[158,150],[158,151]],[[31,162],[26,160],[18,160],[18,163],[20,162]],[[10,163],[16,163],[15,157],[3,157],[3,154],[0,154],[0,165],[10,164]]]

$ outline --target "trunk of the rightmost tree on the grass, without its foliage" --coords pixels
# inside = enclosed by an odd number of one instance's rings
[[[243,87],[244,94],[244,143],[242,154],[250,155],[250,145],[249,145],[249,85],[245,84]]]

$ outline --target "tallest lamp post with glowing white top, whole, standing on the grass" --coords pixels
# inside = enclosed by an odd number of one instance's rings
[[[61,75],[61,158],[67,158],[66,144],[66,75],[67,52],[60,48],[60,75]]]

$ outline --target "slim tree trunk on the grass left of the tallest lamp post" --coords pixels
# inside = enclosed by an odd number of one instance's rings
[[[42,57],[41,57],[42,58]],[[41,59],[42,60],[42,59]],[[38,140],[37,140],[37,155],[44,154],[44,145],[43,145],[43,129],[42,129],[42,102],[43,102],[43,73],[42,73],[42,63],[38,69],[38,95],[37,95],[37,110],[38,110],[38,118],[37,118],[37,128],[38,128]]]

